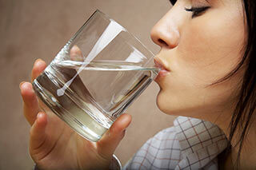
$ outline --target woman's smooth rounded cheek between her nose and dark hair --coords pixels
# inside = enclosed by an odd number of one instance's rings
[[[191,20],[182,31],[177,59],[191,76],[211,83],[238,64],[245,40],[241,14],[212,12]]]

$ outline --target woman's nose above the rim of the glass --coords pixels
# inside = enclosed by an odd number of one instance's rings
[[[155,44],[161,47],[173,49],[178,45],[180,38],[178,26],[171,14],[167,13],[154,25],[150,37]]]

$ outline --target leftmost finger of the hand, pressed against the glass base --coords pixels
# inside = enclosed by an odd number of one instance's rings
[[[30,82],[21,83],[20,89],[23,100],[23,114],[30,125],[33,125],[39,112],[38,99]]]

